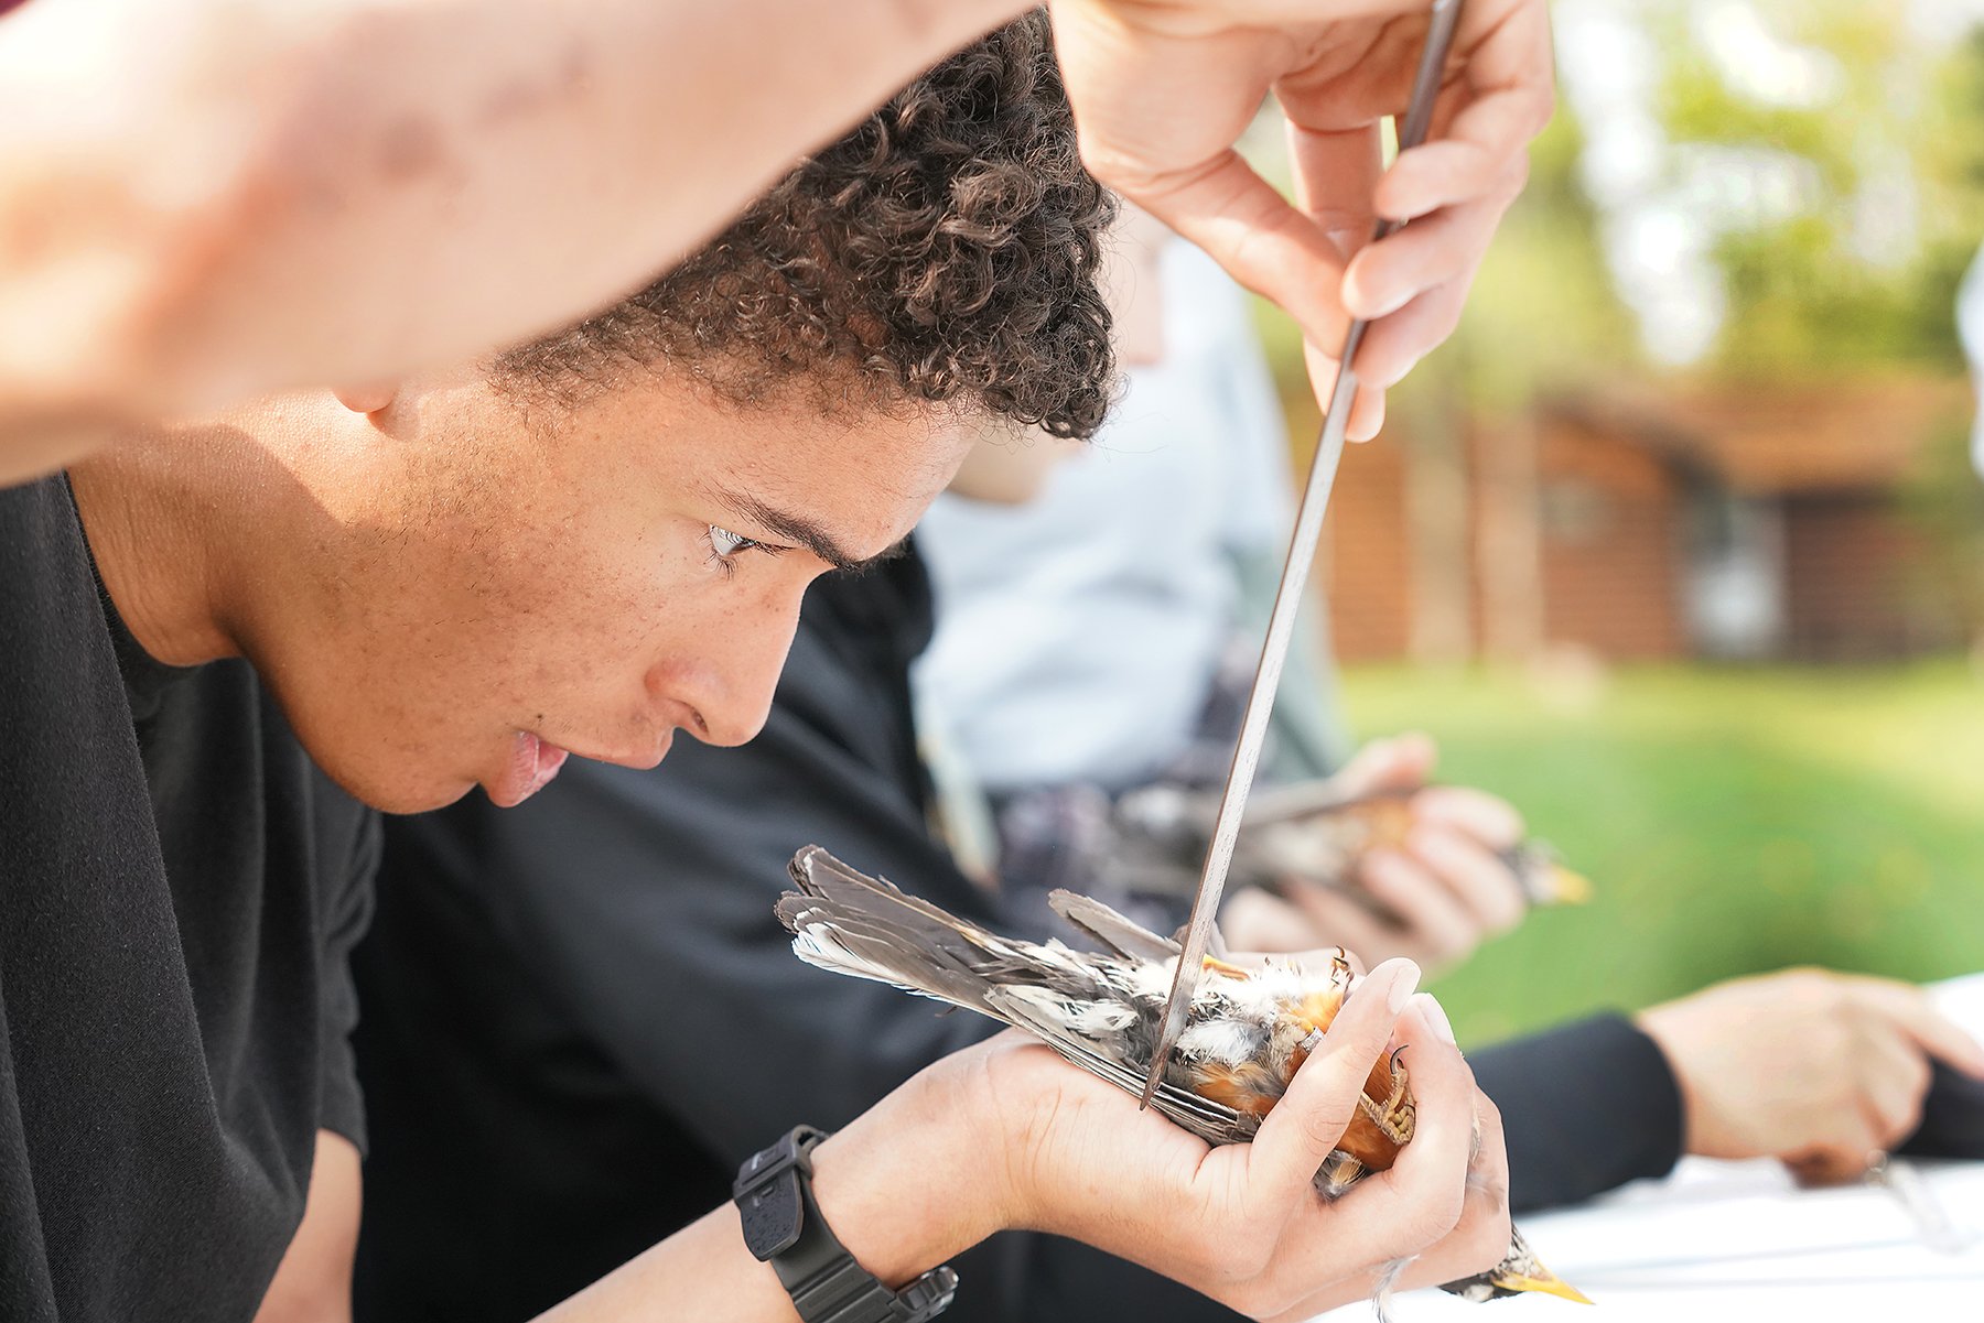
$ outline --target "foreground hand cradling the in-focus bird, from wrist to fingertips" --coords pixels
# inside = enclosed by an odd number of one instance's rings
[[[1500,1117],[1430,998],[1407,1002],[1413,986],[1409,964],[1373,970],[1250,1144],[1208,1148],[1018,1033],[932,1067],[930,1085],[994,1146],[984,1180],[1002,1226],[1073,1236],[1258,1319],[1303,1319],[1367,1297],[1397,1258],[1419,1256],[1411,1287],[1466,1277],[1508,1250]],[[1413,1143],[1325,1204],[1315,1170],[1379,1053],[1401,1045]]]

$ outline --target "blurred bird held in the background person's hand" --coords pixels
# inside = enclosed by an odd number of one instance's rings
[[[1357,897],[1381,918],[1397,918],[1357,883],[1357,865],[1373,849],[1405,849],[1417,823],[1415,793],[1377,789],[1345,795],[1327,780],[1262,789],[1248,805],[1230,885],[1272,893],[1294,885],[1329,887]],[[1169,783],[1129,791],[1111,813],[1117,837],[1111,887],[1190,895],[1216,817],[1216,791]],[[1591,899],[1589,879],[1565,869],[1548,841],[1530,837],[1498,855],[1532,906]]]

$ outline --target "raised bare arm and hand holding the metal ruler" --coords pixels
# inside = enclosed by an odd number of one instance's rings
[[[571,321],[1012,0],[63,0],[0,42],[0,482],[113,430]],[[1303,323],[1353,436],[1446,337],[1550,115],[1544,0],[1474,0],[1379,177],[1423,0],[1057,0],[1083,153]],[[780,40],[766,40],[778,34]],[[1266,91],[1298,202],[1232,151]],[[1415,224],[1363,244],[1373,214]],[[1349,262],[1351,254],[1355,262]]]

